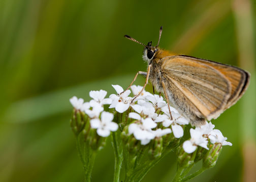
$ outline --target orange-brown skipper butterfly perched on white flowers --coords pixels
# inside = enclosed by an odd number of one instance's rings
[[[142,93],[150,79],[157,92],[165,94],[169,111],[171,103],[190,124],[200,126],[206,120],[216,119],[242,97],[250,79],[247,71],[159,49],[161,34],[162,27],[156,46],[152,46],[152,41],[145,45],[124,35],[144,46],[142,57],[148,63],[147,72],[139,71],[127,87],[131,87],[138,74],[146,77],[141,92],[135,98]]]

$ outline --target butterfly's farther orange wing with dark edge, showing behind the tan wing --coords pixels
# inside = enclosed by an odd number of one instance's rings
[[[221,63],[216,63],[209,60],[198,59],[189,56],[179,56],[182,58],[194,59],[200,63],[207,64],[219,72],[221,72],[230,82],[231,82],[231,96],[225,109],[228,109],[234,105],[244,94],[245,90],[249,85],[250,74],[240,68],[231,65],[225,65]]]

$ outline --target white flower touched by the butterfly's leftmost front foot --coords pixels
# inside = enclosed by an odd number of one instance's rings
[[[118,95],[115,95],[115,94],[110,95],[109,98],[112,100],[112,104],[109,106],[109,108],[115,108],[117,112],[123,113],[130,107],[132,98],[128,96],[131,94],[131,90],[126,90],[124,93],[122,93],[123,88],[121,86],[119,85],[112,85],[112,86],[114,87]]]

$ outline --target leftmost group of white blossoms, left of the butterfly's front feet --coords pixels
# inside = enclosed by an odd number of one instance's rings
[[[103,105],[112,103],[111,99],[105,99],[106,95],[105,90],[91,91],[89,96],[92,100],[86,103],[83,99],[77,99],[75,96],[70,99],[74,108],[85,112],[90,117],[91,128],[97,129],[97,133],[103,137],[109,136],[110,131],[118,129],[118,125],[112,122],[114,115],[103,111]]]

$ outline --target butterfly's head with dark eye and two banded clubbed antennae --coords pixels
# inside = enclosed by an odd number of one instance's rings
[[[160,27],[158,42],[155,46],[152,46],[152,41],[148,42],[148,44],[145,45],[144,43],[139,42],[138,40],[130,37],[129,35],[124,35],[124,37],[126,37],[130,40],[133,40],[133,41],[135,41],[135,42],[144,46],[142,58],[143,58],[144,61],[147,61],[148,64],[149,64],[151,62],[151,60],[154,58],[155,53],[158,51],[157,47],[159,45],[161,35],[162,35],[162,26]]]

